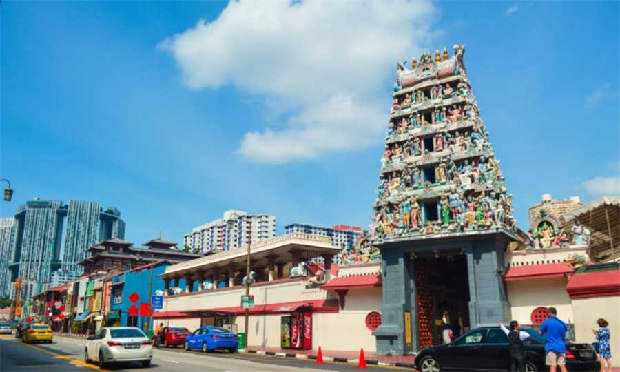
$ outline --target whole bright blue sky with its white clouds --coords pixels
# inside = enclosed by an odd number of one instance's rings
[[[269,4],[269,8],[266,7]],[[620,194],[619,3],[2,1],[1,215],[114,205],[136,243],[225,209],[367,227],[395,61],[466,45],[519,226]],[[203,21],[200,21],[200,20]]]

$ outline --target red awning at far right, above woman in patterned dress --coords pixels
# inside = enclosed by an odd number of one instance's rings
[[[620,296],[620,271],[592,271],[570,277],[566,291],[570,298]]]

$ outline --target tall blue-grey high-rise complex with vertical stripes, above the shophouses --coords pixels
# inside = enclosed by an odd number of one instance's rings
[[[22,296],[31,298],[50,287],[52,271],[81,273],[77,263],[86,257],[88,247],[99,240],[124,237],[125,222],[120,216],[118,209],[103,211],[95,202],[70,200],[63,205],[60,200],[28,200],[17,208],[13,238],[0,245],[8,244],[11,252],[6,261],[10,282],[23,278]],[[7,288],[0,278],[0,293],[3,288],[10,292],[10,285]]]

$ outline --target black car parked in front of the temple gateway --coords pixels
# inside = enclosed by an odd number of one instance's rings
[[[526,339],[526,371],[546,371],[545,338],[535,329],[521,328],[530,333]],[[415,356],[415,366],[422,372],[440,371],[508,371],[509,344],[499,327],[473,329],[447,345],[422,349]],[[566,343],[568,371],[599,371],[595,350],[590,344]]]

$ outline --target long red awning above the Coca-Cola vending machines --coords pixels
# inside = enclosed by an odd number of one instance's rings
[[[249,311],[252,315],[258,314],[273,314],[273,313],[292,313],[299,308],[307,307],[312,311],[318,311],[322,313],[337,313],[338,312],[338,300],[307,300],[307,301],[293,301],[293,302],[278,302],[273,304],[257,304],[254,305]],[[245,314],[245,309],[240,306],[231,307],[211,307],[208,309],[196,309],[185,310],[183,313],[192,314],[194,316],[200,316],[200,313],[222,313],[230,315],[242,315]]]

